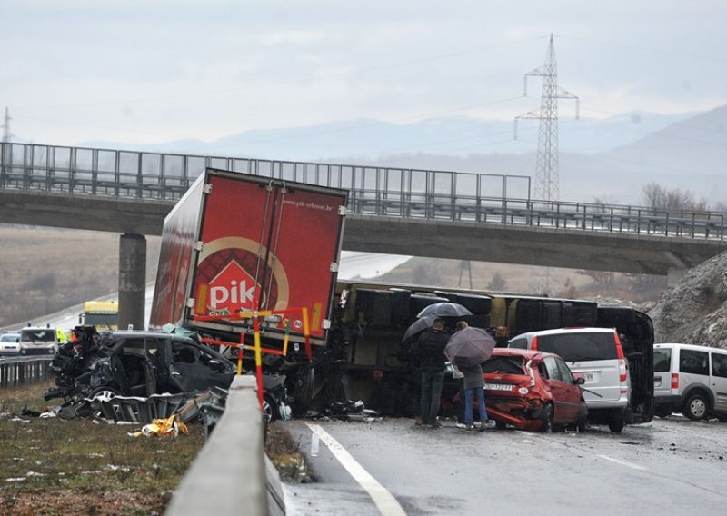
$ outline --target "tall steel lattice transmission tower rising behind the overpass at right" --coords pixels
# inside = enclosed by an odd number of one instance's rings
[[[566,92],[558,85],[558,68],[555,63],[552,34],[545,64],[525,74],[524,96],[528,94],[529,76],[543,77],[540,111],[537,113],[531,111],[515,117],[515,138],[517,138],[517,121],[519,119],[534,118],[540,120],[533,198],[543,201],[557,201],[560,195],[558,179],[558,99],[575,100],[576,119],[579,117],[579,104],[577,96]]]

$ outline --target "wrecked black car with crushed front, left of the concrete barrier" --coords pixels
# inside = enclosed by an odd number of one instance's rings
[[[83,346],[63,346],[51,369],[56,387],[44,398],[65,402],[227,389],[235,373],[233,362],[194,339],[140,331],[95,333]]]

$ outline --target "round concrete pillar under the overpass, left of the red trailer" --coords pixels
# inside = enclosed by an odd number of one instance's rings
[[[119,238],[119,330],[144,330],[146,237],[124,233]]]

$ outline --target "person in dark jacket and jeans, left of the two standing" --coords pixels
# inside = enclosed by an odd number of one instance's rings
[[[417,342],[417,355],[422,369],[422,426],[442,426],[437,422],[437,413],[444,382],[444,347],[448,341],[449,333],[444,331],[444,321],[437,318]]]

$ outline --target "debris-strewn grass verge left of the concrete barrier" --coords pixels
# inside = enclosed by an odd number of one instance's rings
[[[49,383],[0,390],[0,514],[161,514],[204,444],[133,437],[141,425],[20,415],[43,412]]]

